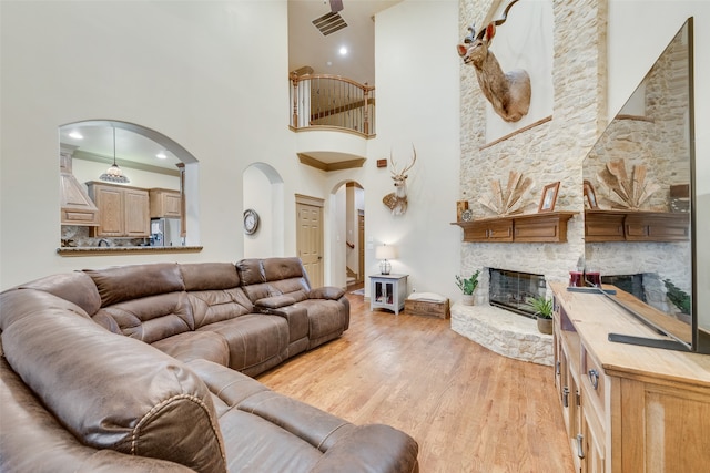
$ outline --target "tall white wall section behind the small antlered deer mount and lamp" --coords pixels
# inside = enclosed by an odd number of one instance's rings
[[[458,193],[458,2],[405,0],[375,22],[377,137],[357,182],[365,187],[366,275],[378,273],[374,247],[396,245],[393,273],[409,275],[409,290],[455,297],[459,270]],[[377,168],[392,154],[399,166],[412,157],[408,209],[393,216],[382,203],[394,191],[390,168]],[[369,239],[372,238],[372,246]],[[365,285],[369,294],[368,284]]]

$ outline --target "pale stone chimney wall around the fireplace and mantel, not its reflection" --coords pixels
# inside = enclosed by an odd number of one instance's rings
[[[486,18],[490,6],[490,0],[459,1],[462,38],[473,20]],[[555,99],[551,120],[500,142],[488,145],[485,141],[486,99],[473,66],[462,62],[460,195],[469,202],[474,218],[490,216],[478,199],[487,195],[491,179],[505,185],[510,171],[520,172],[536,183],[527,196],[526,213],[537,212],[542,187],[556,181],[560,181],[560,189],[555,209],[579,213],[568,223],[567,243],[464,243],[462,274],[496,267],[541,274],[548,281],[567,281],[569,271],[576,269],[584,256],[581,163],[607,124],[607,0],[552,2]],[[498,34],[503,34],[503,29]],[[491,50],[495,52],[495,43]],[[505,71],[506,65],[501,66]],[[495,115],[490,120],[500,119]],[[477,302],[487,301],[488,282],[488,274],[483,271]]]

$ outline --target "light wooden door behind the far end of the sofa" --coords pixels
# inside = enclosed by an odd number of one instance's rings
[[[296,199],[296,249],[312,287],[323,286],[323,206]]]

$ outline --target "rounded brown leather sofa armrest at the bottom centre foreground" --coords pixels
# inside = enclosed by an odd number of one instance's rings
[[[382,424],[362,425],[338,439],[311,473],[416,473],[418,451],[417,442],[402,431]]]

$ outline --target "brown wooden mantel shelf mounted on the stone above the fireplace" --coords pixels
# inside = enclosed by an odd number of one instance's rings
[[[577,212],[545,212],[454,222],[469,243],[565,243],[567,220]]]

